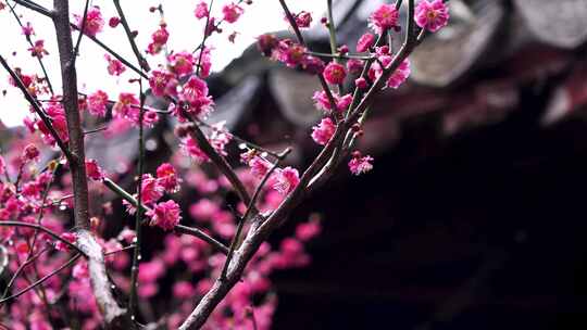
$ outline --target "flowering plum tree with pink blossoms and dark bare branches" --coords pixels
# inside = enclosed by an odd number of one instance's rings
[[[0,253],[9,261],[1,265],[7,279],[0,291],[2,323],[10,329],[268,329],[276,306],[268,276],[307,265],[303,244],[321,226],[312,216],[277,248],[267,238],[342,163],[353,175],[373,168],[373,157],[354,150],[373,98],[405,81],[410,53],[426,34],[447,24],[448,9],[441,0],[383,4],[372,13],[371,30],[365,27],[352,53],[337,43],[332,0],[326,0],[327,17],[321,23],[329,31],[332,51],[317,53],[308,49],[302,33],[312,15],[294,13],[279,0],[284,24],[295,38],[259,36],[259,51],[316,76],[322,86],[313,100],[323,118],[309,132],[322,150],[308,168],[297,169],[282,165],[290,148],[270,151],[235,136],[222,123],[207,123],[215,106],[205,80],[214,61],[208,38],[237,22],[252,1],[224,4],[221,16],[212,15],[213,0],[197,3],[193,15],[205,25],[192,51],[168,49],[171,31],[162,5],[151,8],[162,20],[149,45],[137,45],[121,1],[112,1],[116,13],[108,22],[89,0],[80,13],[71,13],[66,0],[54,0],[51,9],[30,0],[0,2],[21,24],[42,71],[25,73],[0,55],[10,84],[30,110],[26,135],[12,139],[0,156]],[[408,9],[405,28],[399,22],[402,5]],[[35,39],[34,26],[21,22],[16,12],[22,8],[54,24],[61,90],[43,65],[46,56],[55,54],[45,49],[45,40]],[[107,28],[125,31],[135,59],[121,56],[100,39]],[[392,38],[403,38],[401,48],[392,49]],[[78,92],[76,60],[84,39],[103,49],[110,76],[133,72],[135,93]],[[154,64],[157,59],[162,63]],[[148,94],[168,106],[147,104]],[[177,123],[179,148],[168,163],[148,173],[146,129],[161,116]],[[120,176],[86,158],[86,137],[103,130],[85,130],[88,123],[101,123],[110,136],[138,130],[133,191],[116,182]],[[235,141],[242,150],[237,160],[226,149]],[[43,155],[51,158],[41,163]],[[237,162],[242,166],[237,168]],[[182,194],[186,189],[198,198]],[[101,200],[107,192],[121,198],[122,212],[135,219],[114,233],[110,223],[123,216]],[[102,205],[91,208],[96,205],[90,201]],[[141,251],[153,243],[143,240],[145,226],[163,234],[148,257]],[[151,304],[155,296],[165,300],[158,303],[165,315],[157,318]]]

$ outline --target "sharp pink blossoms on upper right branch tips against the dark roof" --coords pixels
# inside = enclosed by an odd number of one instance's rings
[[[311,17],[301,12],[292,17],[296,22],[296,28],[308,27]],[[421,0],[415,7],[415,24],[423,30],[430,33],[438,31],[448,24],[448,7],[442,0]],[[345,87],[354,86],[358,91],[365,91],[371,88],[375,81],[385,76],[385,87],[397,89],[408,80],[411,74],[410,60],[404,59],[396,64],[396,56],[390,45],[387,45],[383,38],[386,35],[392,35],[401,30],[400,13],[396,4],[382,4],[369,17],[369,25],[372,31],[362,35],[355,50],[360,54],[367,54],[369,60],[360,60],[354,56],[345,58],[348,54],[347,46],[333,49],[333,54],[338,54],[337,59],[330,59],[325,62],[314,56],[303,45],[291,39],[278,39],[275,35],[266,34],[258,38],[257,47],[265,56],[274,61],[284,63],[289,67],[298,67],[310,74],[321,75],[325,82],[330,86]],[[323,23],[327,21],[323,20]],[[299,40],[301,41],[301,40]],[[345,65],[346,62],[346,65]],[[394,67],[392,67],[394,66]],[[366,74],[361,74],[363,67]],[[392,69],[391,69],[392,68]],[[388,73],[388,71],[390,71]],[[350,81],[349,81],[350,80]],[[357,93],[342,93],[344,88],[317,90],[314,92],[313,100],[317,110],[322,111],[326,117],[312,127],[311,137],[321,145],[326,145],[333,137],[336,127],[340,124],[340,118],[354,102]],[[359,93],[360,94],[360,93]],[[357,125],[357,124],[355,124]],[[354,126],[353,126],[354,127]],[[362,129],[354,129],[358,137],[363,135]],[[373,157],[352,156],[349,162],[349,169],[354,175],[370,172],[373,168]]]

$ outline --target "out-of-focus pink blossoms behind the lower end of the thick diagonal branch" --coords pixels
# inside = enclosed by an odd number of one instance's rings
[[[178,154],[176,160],[183,157]],[[239,177],[253,189],[259,179],[247,170],[238,172]],[[229,188],[223,178],[210,177],[200,168],[190,168],[183,176],[184,188],[197,191],[200,199],[189,205],[185,215],[187,224],[197,224],[199,228],[209,228],[223,240],[229,240],[236,232],[237,217],[224,203],[222,192]],[[259,208],[275,210],[283,196],[271,187],[263,191]],[[238,205],[242,210],[245,205]],[[247,227],[249,225],[246,225]],[[278,245],[263,243],[257,252],[239,284],[221,303],[211,316],[204,329],[223,329],[234,323],[250,323],[247,308],[254,309],[255,321],[260,329],[268,329],[272,315],[277,306],[277,297],[271,294],[270,275],[278,269],[303,267],[310,263],[304,244],[321,231],[320,217],[311,216],[309,221],[298,225],[292,237],[284,239]],[[167,234],[164,248],[153,257],[141,263],[139,268],[139,296],[150,301],[160,294],[165,285],[163,278],[174,276],[171,292],[177,308],[170,310],[170,329],[177,328],[191,309],[187,297],[203,295],[222,271],[226,256],[211,249],[205,242],[189,236]]]

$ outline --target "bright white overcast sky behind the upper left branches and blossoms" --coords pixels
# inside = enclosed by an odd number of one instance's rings
[[[12,3],[11,0],[8,1]],[[51,8],[53,1],[37,0],[36,2],[46,8]],[[72,14],[83,13],[85,2],[85,0],[70,1]],[[159,15],[150,13],[149,8],[159,3],[163,4],[167,29],[171,34],[170,50],[192,50],[200,43],[204,21],[198,21],[193,16],[193,9],[200,2],[199,0],[122,0],[121,2],[130,27],[140,31],[137,42],[141,50],[147,48],[151,33],[159,25]],[[233,1],[214,1],[213,15],[221,16],[220,10],[222,5],[230,2]],[[104,31],[98,35],[99,39],[130,60],[132,63],[136,63],[122,26],[116,29],[108,26],[108,18],[116,14],[112,0],[92,0],[91,3],[101,8],[102,15],[107,21]],[[319,24],[326,7],[326,1],[317,0],[295,0],[289,1],[289,3],[294,12],[302,9],[311,11],[314,24]],[[209,45],[215,47],[215,51],[212,53],[213,71],[222,69],[230,60],[239,56],[250,43],[254,42],[254,38],[260,34],[287,28],[287,23],[283,18],[283,12],[276,0],[253,0],[252,5],[243,5],[243,8],[246,12],[237,23],[223,23],[224,33],[209,39]],[[58,91],[61,90],[58,50],[52,23],[25,8],[17,7],[16,11],[22,16],[23,23],[30,22],[33,24],[36,31],[34,40],[45,40],[46,49],[50,54],[43,59],[43,62],[48,67],[51,82],[53,82]],[[27,74],[38,73],[39,76],[42,76],[37,61],[29,55],[27,51],[29,46],[8,8],[0,12],[0,27],[2,28],[0,53],[8,59],[9,64],[12,67],[22,67]],[[227,41],[227,36],[234,30],[238,31],[239,35],[235,43],[230,43]],[[76,34],[74,33],[74,40]],[[16,55],[12,54],[13,51],[16,52]],[[128,78],[134,77],[130,69],[127,69],[118,79],[108,75],[107,62],[103,59],[104,51],[93,45],[91,40],[85,39],[82,42],[80,53],[77,60],[77,78],[82,91],[102,89],[110,94],[111,99],[115,98],[120,91],[136,91],[136,88],[129,89],[127,82]],[[155,64],[162,63],[162,59],[149,60],[153,67]],[[20,91],[9,87],[8,77],[8,73],[0,72],[0,90],[8,91],[7,96],[0,96],[0,120],[7,126],[21,125],[23,117],[28,113],[28,107]]]

